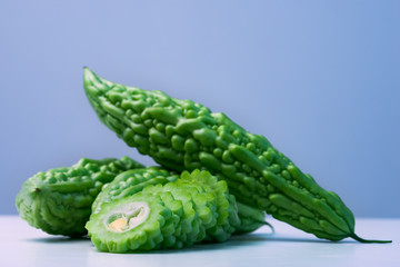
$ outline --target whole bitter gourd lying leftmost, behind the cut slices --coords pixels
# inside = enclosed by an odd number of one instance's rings
[[[29,178],[16,198],[20,216],[51,235],[86,235],[84,224],[101,190],[122,171],[143,168],[131,158],[82,158],[72,167],[40,171]]]

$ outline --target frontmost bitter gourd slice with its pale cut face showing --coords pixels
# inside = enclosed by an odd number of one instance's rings
[[[100,251],[128,253],[160,248],[171,210],[160,196],[138,192],[102,205],[86,227]]]

